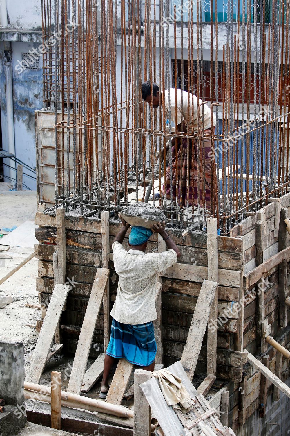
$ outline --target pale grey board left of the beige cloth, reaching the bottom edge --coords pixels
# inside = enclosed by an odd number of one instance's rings
[[[167,405],[156,378],[153,377],[145,381],[140,385],[140,388],[147,398],[164,436],[185,436],[186,432],[172,407]]]

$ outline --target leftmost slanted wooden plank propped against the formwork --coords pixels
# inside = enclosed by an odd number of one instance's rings
[[[53,341],[60,315],[69,293],[69,286],[57,285],[53,290],[50,304],[40,330],[40,334],[33,350],[30,364],[26,374],[26,381],[39,383],[47,356]]]

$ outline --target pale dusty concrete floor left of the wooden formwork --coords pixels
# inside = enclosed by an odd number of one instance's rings
[[[27,219],[33,219],[37,211],[36,191],[3,191],[2,185],[0,183],[0,228],[11,228],[13,225],[18,227]],[[34,250],[34,247],[3,245],[1,239],[0,279]],[[39,303],[35,285],[37,275],[37,259],[32,259],[0,285],[0,293],[13,296],[12,303],[0,308],[1,338],[23,341],[26,364],[30,361],[38,337],[35,329],[26,324],[35,325],[36,320],[41,318],[40,310],[25,307],[25,303]]]

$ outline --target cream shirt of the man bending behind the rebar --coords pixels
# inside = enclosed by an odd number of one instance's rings
[[[189,106],[189,126],[187,121],[187,106],[188,106],[188,94],[187,91],[182,91],[182,107],[181,107],[181,89],[177,89],[177,102],[175,102],[175,88],[170,88],[170,109],[171,109],[171,121],[175,124],[175,112],[177,113],[177,124],[181,124],[184,120],[187,131],[191,133],[192,130],[192,95],[190,94],[190,106]],[[200,118],[198,117],[198,105],[201,100],[198,101],[197,96],[193,95],[193,133],[198,131],[198,123],[202,114],[204,115],[204,129],[211,128],[211,113],[210,108],[207,105],[203,105],[200,108]],[[164,92],[164,110],[167,118],[169,118],[169,99],[168,99],[168,89]],[[213,114],[213,126],[217,124],[217,118]],[[202,128],[202,125],[201,125]]]

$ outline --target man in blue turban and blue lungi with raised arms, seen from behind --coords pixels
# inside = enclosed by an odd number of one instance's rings
[[[120,216],[120,215],[119,215]],[[165,221],[154,224],[152,230],[134,226],[129,235],[130,250],[122,242],[130,224],[122,217],[123,227],[113,241],[113,262],[119,276],[110,342],[105,355],[100,398],[106,398],[109,373],[115,359],[125,358],[147,371],[154,371],[157,345],[153,320],[157,319],[155,290],[158,273],[177,262],[180,252],[165,231]],[[160,233],[168,251],[145,254],[150,236]]]

